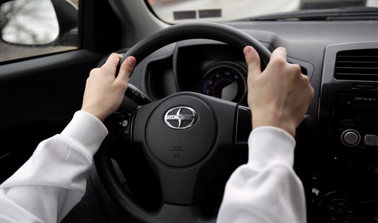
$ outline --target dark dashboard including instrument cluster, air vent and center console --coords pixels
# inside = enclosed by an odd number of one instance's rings
[[[294,169],[309,223],[378,222],[378,21],[226,23],[270,51],[287,49],[315,97],[297,132]],[[130,83],[158,100],[194,91],[247,105],[244,55],[212,40],[167,45]],[[376,103],[377,102],[377,103]]]

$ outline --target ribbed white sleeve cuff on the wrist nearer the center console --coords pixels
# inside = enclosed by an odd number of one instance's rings
[[[248,139],[248,164],[265,167],[280,162],[293,166],[295,145],[293,136],[283,129],[272,126],[256,128]]]

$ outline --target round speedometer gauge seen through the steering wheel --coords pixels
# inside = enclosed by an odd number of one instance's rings
[[[235,63],[222,62],[205,71],[201,93],[231,102],[240,102],[246,89],[247,72]]]

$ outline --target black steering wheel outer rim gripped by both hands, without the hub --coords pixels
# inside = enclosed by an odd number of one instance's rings
[[[127,57],[134,56],[137,59],[136,65],[138,65],[139,62],[157,49],[165,45],[188,39],[210,39],[220,41],[232,45],[240,51],[242,51],[245,46],[251,45],[259,53],[264,65],[268,64],[271,55],[270,51],[264,45],[241,30],[210,22],[184,23],[157,31],[143,39],[126,52],[119,64],[122,64]],[[113,123],[114,119],[115,116],[111,116],[106,122]],[[114,130],[110,130],[110,137],[111,135],[114,135],[111,134],[111,131]],[[131,215],[137,221],[148,223],[157,222],[159,220],[161,221],[161,218],[157,218],[157,216],[171,215],[171,213],[172,216],[170,216],[170,219],[175,219],[173,220],[173,222],[175,222],[180,217],[180,212],[187,212],[187,209],[184,210],[181,206],[176,205],[164,205],[157,212],[147,211],[140,207],[132,199],[131,195],[125,191],[122,183],[119,181],[110,160],[110,151],[109,149],[106,149],[107,147],[107,141],[105,141],[95,155],[95,165],[106,191],[121,209],[126,211],[126,213]],[[197,206],[190,207],[190,211],[193,213],[193,219],[196,219],[197,222],[215,222],[215,219],[205,219],[200,215],[197,215],[196,213],[199,211]],[[174,216],[173,212],[175,212],[177,216]]]

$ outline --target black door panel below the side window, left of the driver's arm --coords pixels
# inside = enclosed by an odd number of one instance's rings
[[[72,119],[102,56],[75,50],[0,66],[0,182]]]

